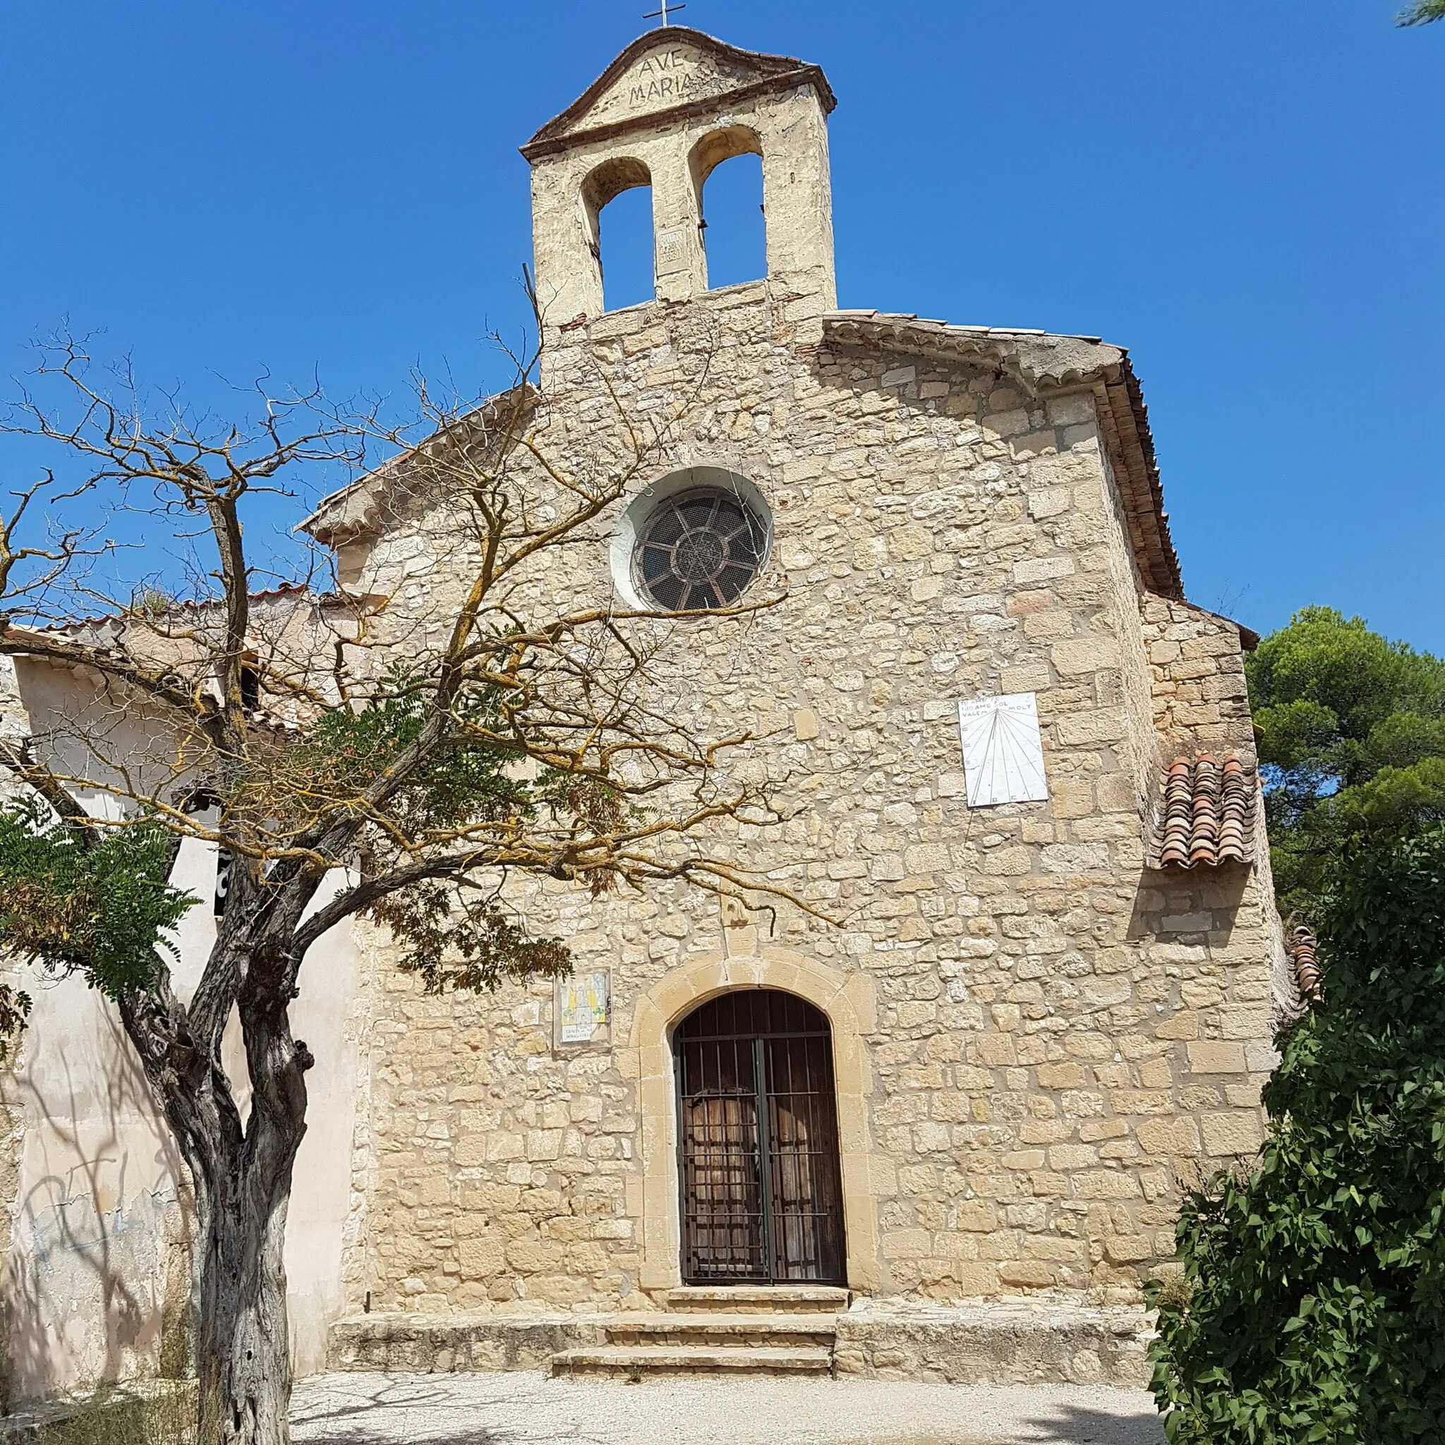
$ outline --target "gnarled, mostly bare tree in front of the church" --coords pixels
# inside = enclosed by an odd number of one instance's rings
[[[98,384],[64,342],[36,383],[61,403],[27,394],[10,420],[82,473],[43,477],[0,519],[0,653],[82,685],[68,715],[0,741],[23,785],[0,814],[0,944],[114,998],[186,1162],[202,1445],[289,1438],[282,1244],[312,1065],[289,1007],[308,948],[366,915],[429,988],[484,988],[569,967],[565,942],[514,906],[527,877],[592,894],[759,887],[709,851],[718,824],[776,818],[763,786],[720,766],[749,734],[708,740],[659,707],[660,614],[607,598],[568,611],[545,575],[595,542],[666,422],[643,429],[614,407],[585,458],[559,460],[530,370],[471,407],[423,386],[410,429],[264,389],[251,425],[205,425],[175,405],[149,413],[124,373]],[[377,448],[392,455],[368,470]],[[275,577],[249,555],[243,513],[338,464],[364,480],[332,510],[445,519],[447,585],[420,600],[322,588],[314,559],[257,588]],[[117,553],[64,520],[98,501],[144,514],[152,542],[194,542],[186,588],[104,585]],[[42,504],[48,525],[22,545]],[[194,903],[168,881],[185,838],[230,860],[188,1001],[158,946]],[[25,1000],[0,1004],[17,1025]],[[221,1065],[233,1010],[244,1124]]]

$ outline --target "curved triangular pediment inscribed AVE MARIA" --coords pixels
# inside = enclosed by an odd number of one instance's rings
[[[584,91],[523,147],[529,159],[565,149],[581,136],[626,127],[685,107],[725,105],[731,95],[812,84],[825,110],[835,101],[816,65],[725,45],[701,30],[666,26],[633,40]]]

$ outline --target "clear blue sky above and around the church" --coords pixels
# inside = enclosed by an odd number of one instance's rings
[[[484,334],[526,315],[516,147],[653,7],[7,0],[0,370],[69,318],[199,403],[262,366],[484,384]],[[1445,652],[1445,23],[1393,9],[681,19],[828,72],[841,305],[1130,348],[1192,600],[1260,630],[1328,603]],[[714,184],[715,264],[744,267]]]

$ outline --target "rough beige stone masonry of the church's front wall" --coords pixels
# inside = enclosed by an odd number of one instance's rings
[[[663,431],[637,487],[705,462],[773,512],[759,587],[786,575],[788,601],[675,624],[659,705],[770,734],[740,766],[786,779],[795,816],[718,845],[842,920],[783,909],[773,944],[874,985],[880,1292],[1137,1299],[1173,1251],[1181,1182],[1261,1130],[1260,876],[1143,863],[1157,744],[1139,699],[1160,698],[1170,746],[1247,724],[1237,637],[1152,598],[1140,620],[1087,387],[834,351],[759,283],[569,332],[540,436],[572,465],[616,439],[601,373]],[[614,525],[522,595],[605,598]],[[403,513],[358,587],[439,617],[465,561],[445,514]],[[957,699],[1013,691],[1038,692],[1051,798],[971,812]],[[646,990],[728,948],[717,905],[681,887],[594,902],[548,881],[519,902],[613,970],[614,1045]],[[364,974],[351,1308],[646,1303],[640,1094],[613,1049],[553,1051],[542,985],[428,998],[379,936]]]

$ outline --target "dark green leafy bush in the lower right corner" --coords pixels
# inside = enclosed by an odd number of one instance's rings
[[[1445,1439],[1445,829],[1347,847],[1321,925],[1259,1168],[1188,1196],[1152,1293],[1178,1445]]]

